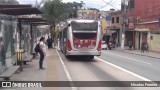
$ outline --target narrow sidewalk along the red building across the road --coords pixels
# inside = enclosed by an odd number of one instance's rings
[[[160,59],[160,53],[158,53],[158,52],[149,51],[149,52],[141,53],[140,50],[129,50],[128,47],[125,47],[124,50],[122,50],[121,47],[117,47],[113,50],[123,51],[123,52],[126,52],[126,53],[131,53],[131,54],[136,54],[136,55],[141,55],[141,56],[147,56],[147,57],[151,57],[151,58]]]

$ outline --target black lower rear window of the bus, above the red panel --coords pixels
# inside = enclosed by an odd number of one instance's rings
[[[78,39],[91,39],[96,37],[96,33],[73,33],[73,35]]]

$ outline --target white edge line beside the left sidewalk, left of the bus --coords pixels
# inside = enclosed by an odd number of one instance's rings
[[[66,76],[67,76],[68,80],[72,82],[73,80],[72,80],[71,75],[69,74],[69,72],[68,72],[68,70],[67,70],[66,65],[64,64],[64,62],[63,62],[63,60],[62,60],[62,58],[61,58],[61,56],[59,55],[59,53],[58,53],[57,50],[56,50],[56,52],[57,52],[58,57],[59,57],[59,59],[60,59],[60,61],[61,61],[61,63],[62,63],[63,69],[64,69],[64,71],[65,71],[65,73],[66,73]],[[77,90],[77,88],[75,87],[74,83],[70,83],[70,84],[71,84],[71,86],[72,86],[72,87],[71,87],[72,90]]]

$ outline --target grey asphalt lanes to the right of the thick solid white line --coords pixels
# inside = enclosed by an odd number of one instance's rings
[[[151,81],[160,81],[160,59],[117,51],[102,51],[100,58]]]

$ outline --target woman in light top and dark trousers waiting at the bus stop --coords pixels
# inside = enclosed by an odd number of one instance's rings
[[[44,57],[46,55],[46,45],[45,45],[45,37],[41,37],[40,38],[40,42],[39,42],[39,47],[40,47],[40,51],[39,51],[39,54],[40,54],[40,60],[39,60],[39,69],[45,69],[43,67],[43,61],[44,61]]]

